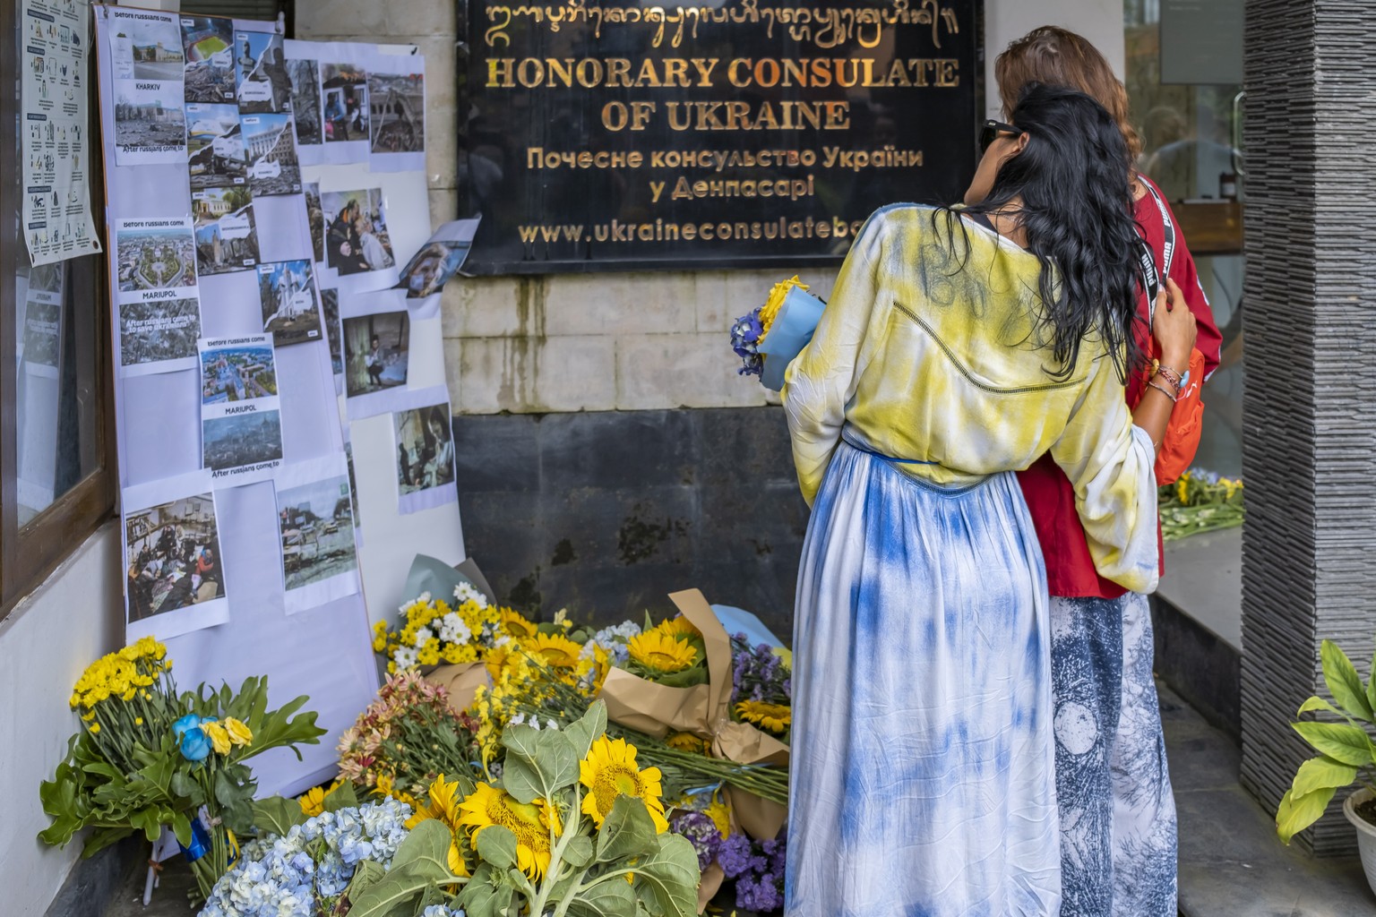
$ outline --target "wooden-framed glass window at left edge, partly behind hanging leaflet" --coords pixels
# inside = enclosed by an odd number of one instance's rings
[[[0,54],[0,117],[10,125],[21,110],[17,7],[0,4],[10,48]],[[100,214],[99,144],[91,154]],[[30,268],[21,158],[12,131],[0,142],[0,619],[110,516],[116,480],[105,256]]]

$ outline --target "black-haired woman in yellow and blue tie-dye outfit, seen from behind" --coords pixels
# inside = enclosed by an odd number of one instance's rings
[[[1079,92],[1031,87],[1009,118],[987,125],[963,210],[868,220],[786,375],[813,507],[794,917],[1060,907],[1046,572],[1015,469],[1050,451],[1097,569],[1156,587],[1168,411],[1143,429],[1123,400],[1139,359],[1127,150]],[[1194,319],[1163,293],[1153,331],[1192,342]]]

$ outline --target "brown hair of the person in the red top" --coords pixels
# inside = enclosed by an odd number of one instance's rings
[[[1099,49],[1083,36],[1058,26],[1033,29],[995,59],[993,76],[1004,111],[1017,104],[1018,93],[1029,82],[1079,89],[1113,115],[1132,162],[1142,154],[1142,137],[1127,120],[1127,89]]]

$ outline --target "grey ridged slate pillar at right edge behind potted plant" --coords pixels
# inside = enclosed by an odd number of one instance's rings
[[[1365,675],[1376,631],[1373,59],[1369,0],[1247,0],[1243,782],[1271,810],[1320,642]],[[1300,841],[1355,835],[1335,804]]]

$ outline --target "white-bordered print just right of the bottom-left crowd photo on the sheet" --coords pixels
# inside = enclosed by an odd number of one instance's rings
[[[277,514],[288,615],[359,591],[354,503],[343,452],[278,469]]]

